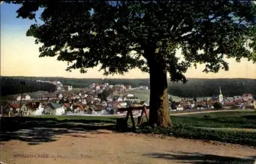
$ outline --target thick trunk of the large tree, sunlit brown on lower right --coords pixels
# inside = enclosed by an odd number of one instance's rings
[[[172,121],[168,113],[167,69],[164,56],[151,53],[147,58],[150,67],[150,125],[170,127]]]

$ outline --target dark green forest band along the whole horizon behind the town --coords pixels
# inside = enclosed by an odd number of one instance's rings
[[[13,79],[14,78],[14,79]],[[3,80],[4,79],[4,80]],[[24,87],[26,91],[37,90],[53,90],[50,84],[36,83],[35,80],[51,80],[60,81],[63,85],[71,85],[73,88],[85,88],[91,83],[109,83],[112,85],[124,84],[131,85],[133,88],[139,86],[150,87],[149,79],[117,79],[117,78],[64,78],[64,77],[2,77],[1,92],[2,95],[11,95],[20,93],[20,80],[30,81],[26,82],[28,85]],[[8,82],[9,81],[9,82]],[[13,82],[13,84],[10,81]],[[220,78],[220,79],[202,79],[202,78],[188,78],[185,85],[182,83],[172,83],[169,81],[168,93],[170,95],[179,97],[208,97],[217,96],[219,94],[219,87],[224,96],[242,95],[244,93],[251,93],[256,95],[256,79],[246,78]]]

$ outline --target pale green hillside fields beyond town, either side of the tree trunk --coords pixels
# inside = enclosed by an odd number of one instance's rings
[[[148,100],[150,99],[150,90],[140,90],[140,89],[133,89],[129,90],[129,93],[137,96],[141,100],[145,100],[148,103]],[[172,96],[172,95],[169,95]],[[180,101],[181,97],[178,96],[172,96],[174,101]]]

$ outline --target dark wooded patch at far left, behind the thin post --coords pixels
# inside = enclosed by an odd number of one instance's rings
[[[56,86],[49,83],[40,83],[30,78],[18,78],[18,77],[1,77],[1,96],[15,95],[22,92],[20,81],[25,81],[23,92],[36,92],[36,91],[56,91]]]

